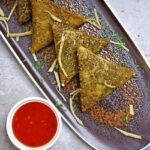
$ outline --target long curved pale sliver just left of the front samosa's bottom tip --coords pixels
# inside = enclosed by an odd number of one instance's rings
[[[78,118],[78,116],[75,114],[75,110],[74,110],[74,107],[73,107],[73,100],[75,98],[75,96],[78,94],[78,92],[76,92],[74,95],[72,95],[70,97],[70,110],[71,110],[71,113],[72,115],[74,116],[74,118],[76,119],[76,121],[83,126],[83,122],[80,120],[80,118]]]

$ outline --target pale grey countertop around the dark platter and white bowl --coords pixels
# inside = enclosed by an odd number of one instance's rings
[[[144,54],[150,53],[150,0],[108,0]],[[150,57],[147,57],[150,63]],[[0,150],[16,150],[5,129],[10,108],[20,99],[41,96],[0,38]],[[63,122],[52,150],[91,150]],[[150,150],[150,148],[147,148]]]

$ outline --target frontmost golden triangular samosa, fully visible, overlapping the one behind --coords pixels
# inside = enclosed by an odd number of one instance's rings
[[[113,64],[82,46],[78,47],[77,55],[82,111],[94,106],[135,74],[133,70]]]

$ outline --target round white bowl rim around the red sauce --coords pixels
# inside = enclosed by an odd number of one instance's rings
[[[52,140],[49,141],[49,143],[47,143],[43,146],[40,146],[40,147],[28,147],[28,146],[22,144],[15,137],[15,135],[13,133],[13,129],[12,129],[12,120],[13,120],[15,112],[18,110],[18,108],[20,108],[21,106],[23,106],[24,104],[29,103],[29,102],[41,102],[41,103],[47,105],[54,112],[54,114],[57,118],[58,126],[57,126],[57,131],[56,131],[54,137],[52,138]],[[48,100],[45,100],[43,98],[40,98],[40,97],[28,97],[28,98],[25,98],[25,99],[19,101],[18,103],[16,103],[13,106],[13,108],[10,110],[8,117],[7,117],[7,122],[6,122],[6,130],[7,130],[9,139],[17,148],[19,148],[21,150],[46,150],[46,149],[52,147],[60,135],[61,128],[62,128],[62,120],[61,120],[59,112],[56,110],[56,108],[53,106],[53,104],[51,102],[49,102]]]

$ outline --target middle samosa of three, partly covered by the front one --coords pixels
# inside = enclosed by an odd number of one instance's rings
[[[93,53],[98,53],[109,44],[109,40],[101,37],[88,35],[87,33],[71,27],[55,24],[53,26],[54,42],[57,55],[59,55],[62,36],[65,40],[62,46],[61,62],[66,75],[59,67],[61,84],[66,85],[77,73],[77,47],[82,44],[89,48]]]

